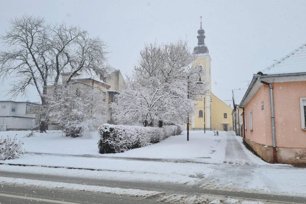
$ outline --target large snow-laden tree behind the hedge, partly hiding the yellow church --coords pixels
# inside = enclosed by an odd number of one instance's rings
[[[186,121],[187,114],[194,112],[193,101],[207,87],[207,83],[196,84],[199,75],[193,73],[199,72],[202,77],[204,71],[193,63],[195,55],[189,50],[181,40],[145,45],[126,88],[112,104],[118,123],[161,127]]]

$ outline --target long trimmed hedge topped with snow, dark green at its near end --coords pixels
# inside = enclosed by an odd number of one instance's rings
[[[99,127],[100,139],[98,148],[100,154],[125,152],[130,149],[158,143],[171,135],[179,135],[182,131],[176,125],[155,127],[140,127],[127,125],[103,124]]]

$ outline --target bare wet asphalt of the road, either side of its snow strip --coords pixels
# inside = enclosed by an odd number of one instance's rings
[[[244,193],[235,191],[221,191],[202,189],[199,187],[190,187],[180,184],[167,184],[167,183],[153,183],[153,182],[131,182],[131,181],[114,181],[114,180],[99,180],[99,179],[86,179],[78,177],[62,177],[44,174],[31,174],[31,173],[12,173],[0,171],[0,176],[56,181],[74,184],[85,184],[94,186],[106,187],[120,187],[120,188],[134,188],[148,191],[164,191],[166,194],[183,194],[183,195],[207,195],[209,196],[229,196],[238,198],[251,198],[261,199],[267,201],[277,202],[295,202],[306,203],[305,197],[296,196],[280,196],[268,195],[258,193]],[[41,200],[45,199],[45,200]],[[1,185],[0,187],[0,203],[1,204],[19,204],[19,203],[62,203],[62,204],[75,204],[75,203],[160,203],[156,202],[157,198],[150,198],[141,200],[136,197],[124,197],[112,194],[91,193],[84,191],[66,191],[64,189],[40,189],[37,187],[18,187],[16,185]]]

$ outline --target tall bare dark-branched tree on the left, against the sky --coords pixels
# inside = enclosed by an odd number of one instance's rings
[[[47,85],[58,87],[61,73],[70,73],[69,84],[77,73],[107,77],[106,44],[90,38],[88,32],[76,26],[48,24],[41,17],[24,15],[9,21],[10,27],[1,38],[5,50],[0,52],[0,76],[16,78],[9,95],[25,95],[35,86],[45,107]],[[47,117],[42,111],[39,129],[46,131]]]

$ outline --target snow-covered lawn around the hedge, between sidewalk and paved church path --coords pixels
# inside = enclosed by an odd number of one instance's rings
[[[70,138],[63,136],[60,131],[48,131],[47,133],[35,133],[34,137],[23,138],[29,131],[7,131],[0,135],[9,135],[23,141],[23,148],[28,152],[55,153],[55,154],[89,154],[109,157],[131,157],[131,158],[209,158],[209,161],[221,161],[225,155],[226,141],[214,133],[207,131],[190,131],[190,139],[187,142],[186,131],[181,135],[170,136],[160,143],[142,148],[129,150],[117,154],[99,154],[98,132],[92,132],[90,136]]]

